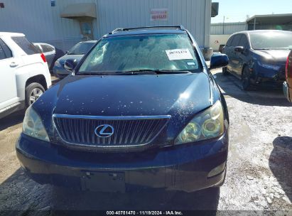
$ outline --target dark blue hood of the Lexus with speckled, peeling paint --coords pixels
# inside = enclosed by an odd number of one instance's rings
[[[180,75],[69,75],[34,104],[49,136],[53,114],[90,116],[171,115],[174,139],[195,114],[210,107],[219,91],[205,72]]]

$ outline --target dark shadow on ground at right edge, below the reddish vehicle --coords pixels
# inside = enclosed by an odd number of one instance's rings
[[[273,145],[269,166],[292,202],[292,137],[279,136],[274,139]]]

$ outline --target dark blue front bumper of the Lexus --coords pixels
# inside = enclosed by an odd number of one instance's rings
[[[139,153],[72,151],[25,134],[16,143],[21,166],[33,180],[81,190],[91,190],[84,179],[94,172],[124,176],[125,191],[137,187],[186,192],[210,188],[224,181],[227,151],[228,132],[217,140]],[[107,188],[104,180],[94,181],[104,185],[98,190]]]

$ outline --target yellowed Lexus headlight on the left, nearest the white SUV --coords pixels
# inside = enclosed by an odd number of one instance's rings
[[[23,134],[32,136],[36,139],[50,141],[47,131],[45,131],[45,127],[43,126],[43,122],[36,111],[33,110],[33,107],[28,107],[28,109],[26,109],[26,116],[23,119],[22,131]]]

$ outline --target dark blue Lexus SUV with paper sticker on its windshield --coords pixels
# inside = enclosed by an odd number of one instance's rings
[[[182,26],[119,28],[65,66],[72,74],[28,108],[16,143],[33,180],[115,192],[224,183],[227,105]]]

